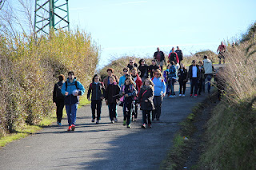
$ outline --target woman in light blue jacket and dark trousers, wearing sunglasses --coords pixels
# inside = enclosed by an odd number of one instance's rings
[[[154,71],[154,77],[151,79],[154,84],[154,110],[152,111],[152,121],[156,118],[160,120],[162,99],[166,95],[166,83],[162,79],[162,73],[159,69]]]

